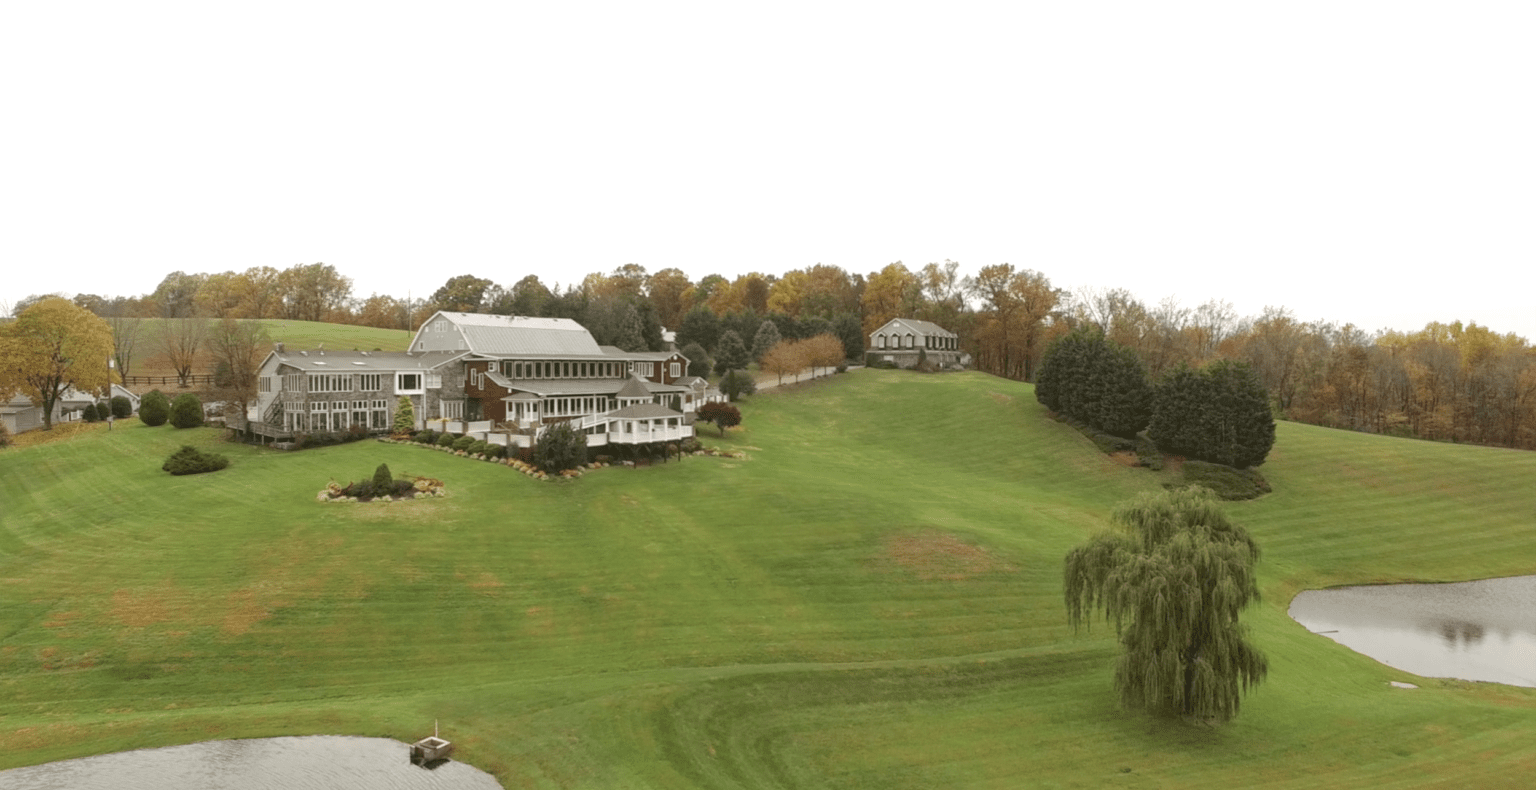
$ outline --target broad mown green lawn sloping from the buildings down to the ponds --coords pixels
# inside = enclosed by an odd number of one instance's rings
[[[863,370],[743,406],[748,460],[536,483],[212,430],[0,452],[0,767],[207,738],[419,736],[507,787],[1524,785],[1536,690],[1424,681],[1286,618],[1293,592],[1536,570],[1536,453],[1281,424],[1269,681],[1220,729],[1117,710],[1061,556],[1160,484],[1029,386]],[[189,436],[230,456],[170,478]],[[319,504],[330,478],[450,496]],[[1413,679],[1424,689],[1389,689]]]

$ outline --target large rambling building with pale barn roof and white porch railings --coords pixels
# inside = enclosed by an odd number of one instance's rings
[[[406,352],[287,350],[263,361],[252,430],[290,440],[387,430],[401,397],[416,427],[527,447],[568,421],[588,446],[693,436],[693,413],[719,390],[687,375],[677,350],[599,346],[568,318],[441,310]]]

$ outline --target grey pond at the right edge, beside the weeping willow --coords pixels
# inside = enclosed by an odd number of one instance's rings
[[[1536,687],[1536,576],[1307,590],[1290,616],[1415,675]]]

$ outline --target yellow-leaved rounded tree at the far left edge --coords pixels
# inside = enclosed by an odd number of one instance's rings
[[[17,392],[43,407],[43,429],[54,429],[54,406],[66,390],[104,393],[112,327],[91,310],[49,297],[0,324],[0,398]]]

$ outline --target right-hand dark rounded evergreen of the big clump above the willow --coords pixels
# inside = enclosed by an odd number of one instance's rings
[[[1247,469],[1263,464],[1275,446],[1275,417],[1253,370],[1221,360],[1164,377],[1147,436],[1167,453]]]

